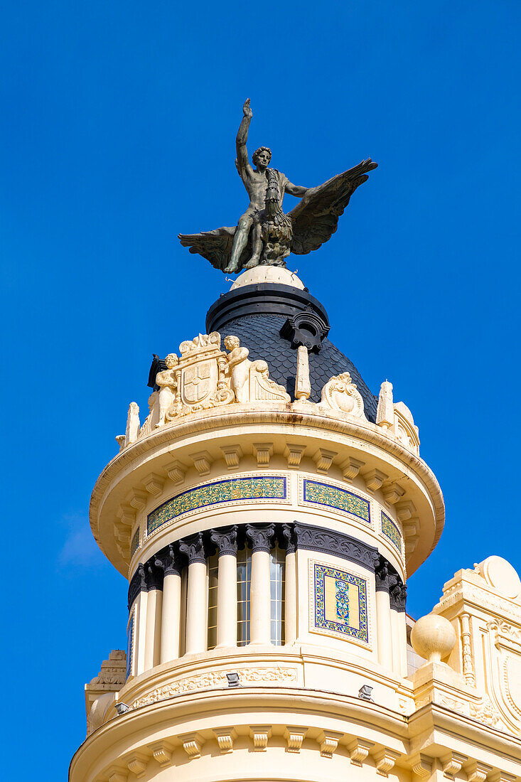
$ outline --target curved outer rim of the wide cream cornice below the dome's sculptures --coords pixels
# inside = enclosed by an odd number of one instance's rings
[[[311,404],[303,402],[294,402],[293,404],[271,402],[269,406],[259,403],[235,404],[233,409],[231,406],[217,407],[210,411],[192,414],[181,422],[163,426],[117,454],[99,475],[91,498],[89,513],[92,533],[102,551],[106,553],[98,528],[98,515],[102,499],[113,482],[117,480],[117,476],[121,472],[128,472],[136,459],[150,454],[151,451],[159,449],[165,443],[172,443],[173,440],[181,444],[185,438],[201,433],[207,434],[216,429],[223,436],[226,436],[231,428],[240,426],[244,432],[249,427],[256,425],[282,425],[289,428],[295,425],[304,426],[308,429],[309,436],[315,437],[326,436],[329,438],[331,434],[352,436],[363,443],[378,447],[383,451],[383,454],[389,454],[396,458],[404,468],[415,473],[433,503],[435,529],[432,543],[426,555],[436,546],[444,526],[444,500],[436,477],[420,457],[411,453],[390,436],[386,436],[383,429],[370,421],[351,418],[347,415],[343,418],[337,418],[318,407],[315,408]],[[128,567],[123,558],[121,561],[115,561],[114,564],[121,572],[125,572]]]

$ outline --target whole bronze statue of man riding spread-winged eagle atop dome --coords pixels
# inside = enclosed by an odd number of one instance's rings
[[[189,247],[191,253],[199,253],[221,271],[235,273],[260,264],[286,266],[289,253],[306,255],[318,249],[335,233],[338,218],[358,185],[367,181],[368,171],[378,165],[369,158],[316,188],[293,185],[285,174],[268,168],[268,147],[253,152],[255,169],[250,166],[246,150],[253,116],[250,99],[244,103],[243,115],[235,142],[235,165],[250,196],[250,206],[235,228],[179,234],[181,245]],[[282,211],[286,192],[301,199],[288,214]]]

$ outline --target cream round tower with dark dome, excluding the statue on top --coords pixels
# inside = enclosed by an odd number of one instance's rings
[[[411,412],[286,269],[241,274],[205,332],[154,358],[92,493],[127,669],[88,685],[70,780],[410,779],[406,581],[444,524]]]

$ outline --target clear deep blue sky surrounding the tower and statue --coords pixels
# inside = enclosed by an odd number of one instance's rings
[[[124,647],[127,587],[89,494],[128,403],[146,410],[152,353],[228,288],[176,235],[243,210],[248,96],[252,149],[292,181],[379,162],[289,267],[373,391],[389,378],[411,407],[444,490],[409,610],[488,554],[521,570],[520,22],[517,0],[3,5],[5,778],[27,752],[65,777],[83,684]]]

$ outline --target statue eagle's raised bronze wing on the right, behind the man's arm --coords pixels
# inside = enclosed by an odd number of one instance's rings
[[[358,166],[336,174],[318,188],[312,188],[289,212],[293,222],[291,251],[307,255],[331,239],[338,226],[338,218],[349,203],[356,188],[368,180],[368,172],[378,166],[371,158]]]

